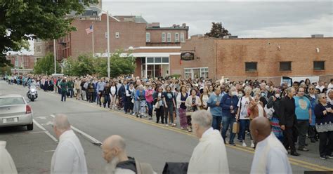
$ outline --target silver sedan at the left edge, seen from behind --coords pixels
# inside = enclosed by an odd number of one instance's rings
[[[0,95],[0,127],[27,126],[32,131],[32,115],[32,108],[22,95]]]

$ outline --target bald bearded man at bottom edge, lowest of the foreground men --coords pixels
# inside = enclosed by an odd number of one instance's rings
[[[119,135],[112,135],[105,139],[102,150],[103,158],[107,162],[106,173],[155,173],[149,163],[139,163],[136,159],[127,156],[125,140]]]

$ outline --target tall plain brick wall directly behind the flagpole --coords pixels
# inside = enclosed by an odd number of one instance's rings
[[[117,22],[109,18],[110,25],[110,52],[117,49],[126,49],[129,46],[145,46],[145,24],[135,22]],[[86,28],[91,25],[91,20],[74,20],[72,25],[77,27],[76,32],[71,33],[71,56],[76,58],[84,53],[92,53],[92,33],[86,34]],[[105,53],[107,50],[106,15],[100,21],[93,21],[94,27],[94,51],[95,53]],[[119,32],[119,38],[115,37]]]

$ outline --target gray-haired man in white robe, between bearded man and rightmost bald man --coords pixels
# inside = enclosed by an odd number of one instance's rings
[[[221,133],[211,128],[210,112],[194,112],[191,122],[192,131],[200,142],[192,153],[188,173],[229,173],[226,146]]]

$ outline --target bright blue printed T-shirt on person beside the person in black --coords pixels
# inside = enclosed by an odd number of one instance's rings
[[[295,96],[295,114],[298,120],[308,120],[309,114],[308,109],[311,109],[311,102],[305,96]]]

